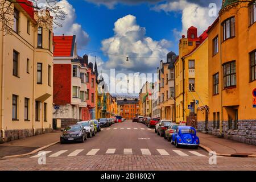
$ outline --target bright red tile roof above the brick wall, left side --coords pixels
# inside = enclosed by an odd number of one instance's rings
[[[76,36],[53,36],[53,56],[55,57],[70,57],[73,56],[75,48]]]

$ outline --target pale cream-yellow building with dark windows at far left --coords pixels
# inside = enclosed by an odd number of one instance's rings
[[[15,3],[13,34],[0,31],[0,142],[52,131],[52,29],[34,14]]]

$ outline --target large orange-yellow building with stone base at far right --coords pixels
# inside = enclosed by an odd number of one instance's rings
[[[201,130],[255,145],[256,97],[252,93],[256,88],[256,7],[253,2],[241,5],[223,1],[219,17],[210,27],[210,114]]]

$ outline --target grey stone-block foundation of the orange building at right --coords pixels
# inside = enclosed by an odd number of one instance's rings
[[[205,122],[197,122],[197,131],[224,137],[226,139],[236,140],[238,142],[256,145],[256,120],[241,120],[238,121],[237,130],[228,129],[228,121],[223,122],[222,135],[219,134],[219,129],[213,129],[213,122],[208,121],[207,130],[205,130]]]

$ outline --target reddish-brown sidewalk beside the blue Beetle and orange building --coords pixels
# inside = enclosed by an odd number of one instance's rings
[[[216,151],[218,155],[256,157],[256,146],[200,132],[197,133],[197,136],[200,139],[201,147],[208,151]]]

